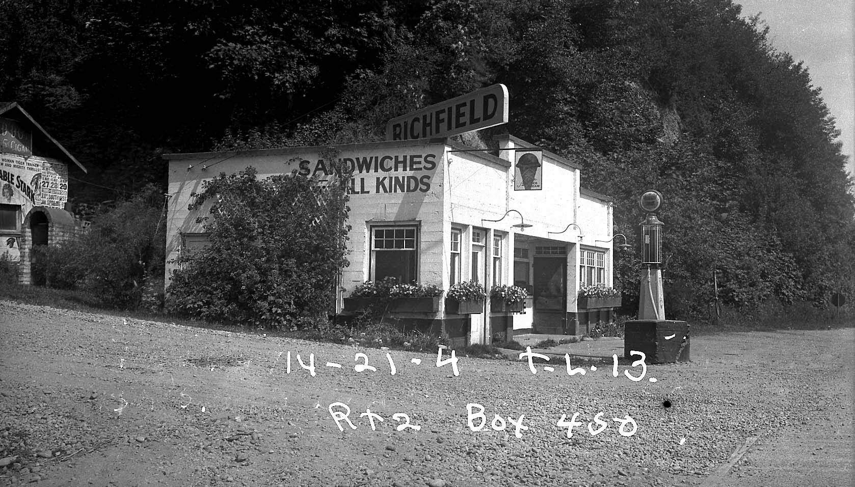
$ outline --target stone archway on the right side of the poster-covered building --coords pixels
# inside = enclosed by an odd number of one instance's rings
[[[21,228],[21,262],[18,267],[18,282],[32,285],[32,249],[37,245],[62,244],[78,232],[82,232],[83,222],[74,218],[74,214],[61,209],[44,206],[32,207],[24,218]]]

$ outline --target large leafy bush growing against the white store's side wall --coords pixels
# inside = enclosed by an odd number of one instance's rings
[[[335,161],[335,157],[325,157]],[[237,325],[304,327],[326,320],[345,267],[348,208],[344,182],[303,176],[257,180],[247,167],[207,181],[192,209],[210,244],[180,258],[167,308]]]

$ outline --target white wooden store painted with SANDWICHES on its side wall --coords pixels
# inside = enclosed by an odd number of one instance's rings
[[[481,314],[439,306],[397,316],[452,342],[489,343],[526,332],[576,335],[609,318],[578,308],[576,297],[581,284],[612,285],[609,198],[582,190],[572,161],[511,136],[491,144],[492,153],[449,138],[333,146],[354,167],[350,266],[341,274],[336,312],[357,285],[393,276],[444,290],[471,279],[487,292],[499,284],[528,290],[523,313],[497,313],[486,300]],[[171,195],[167,284],[171,261],[206,239],[197,223],[204,214],[188,209],[204,180],[246,167],[255,167],[259,179],[292,171],[322,178],[329,167],[320,154],[327,149],[164,155]],[[538,162],[526,154],[540,155]],[[516,226],[522,223],[530,226]]]

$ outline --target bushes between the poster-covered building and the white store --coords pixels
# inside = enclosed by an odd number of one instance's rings
[[[95,214],[88,231],[78,238],[34,248],[33,283],[85,290],[112,308],[159,302],[165,248],[163,209],[161,192],[150,186]]]

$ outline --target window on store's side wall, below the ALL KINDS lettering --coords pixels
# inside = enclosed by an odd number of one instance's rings
[[[416,280],[417,233],[415,226],[372,227],[371,280],[389,277],[399,283]]]

